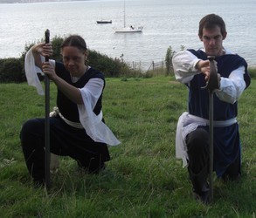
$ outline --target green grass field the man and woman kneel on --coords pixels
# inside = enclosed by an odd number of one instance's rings
[[[26,84],[0,86],[0,217],[255,217],[255,89],[239,99],[242,179],[214,178],[214,203],[194,200],[175,158],[176,122],[187,90],[171,77],[107,78],[103,112],[121,140],[99,175],[80,174],[60,158],[52,189],[34,188],[19,142],[23,122],[44,116],[44,97]],[[51,107],[56,89],[51,84]]]

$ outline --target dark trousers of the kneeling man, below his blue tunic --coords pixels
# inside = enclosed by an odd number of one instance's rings
[[[204,127],[199,126],[197,130],[191,132],[186,139],[187,153],[189,156],[188,171],[190,181],[196,192],[201,192],[207,185],[209,175],[209,146],[210,135]],[[239,157],[227,167],[222,175],[224,180],[238,179],[240,174],[240,159]]]

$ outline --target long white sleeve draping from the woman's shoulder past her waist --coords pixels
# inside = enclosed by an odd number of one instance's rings
[[[93,112],[94,106],[104,86],[104,81],[101,78],[91,78],[86,85],[80,89],[83,103],[78,105],[80,113],[80,123],[85,128],[86,133],[97,142],[106,143],[110,146],[117,146],[121,142],[116,139],[114,133],[102,122],[102,112],[97,116]]]

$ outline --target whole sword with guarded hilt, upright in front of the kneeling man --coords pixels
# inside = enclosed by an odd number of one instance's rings
[[[215,57],[208,56],[210,60],[210,75],[207,84],[203,87],[209,92],[209,133],[210,133],[210,164],[209,164],[209,202],[213,201],[213,93],[219,89],[218,70],[215,65]]]

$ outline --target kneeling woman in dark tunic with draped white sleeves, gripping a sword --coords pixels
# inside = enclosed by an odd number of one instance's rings
[[[61,45],[63,64],[54,60],[52,44],[36,44],[26,54],[25,72],[30,85],[41,91],[37,69],[40,68],[57,86],[57,109],[50,117],[51,153],[70,156],[90,174],[99,173],[110,160],[108,145],[120,143],[104,124],[102,92],[105,79],[86,65],[85,40],[72,35]],[[45,181],[45,119],[30,119],[22,127],[20,139],[24,159],[35,183]]]

